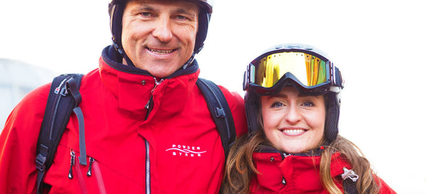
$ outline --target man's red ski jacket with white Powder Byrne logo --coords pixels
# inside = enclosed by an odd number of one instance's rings
[[[79,164],[78,121],[72,114],[45,174],[50,193],[218,193],[224,150],[195,84],[197,62],[155,84],[148,72],[118,64],[110,53],[106,47],[99,69],[83,76],[80,86],[87,166]],[[241,135],[244,100],[220,88]],[[31,91],[6,121],[0,193],[35,193],[35,150],[49,89],[47,84]],[[150,98],[153,109],[147,115]]]

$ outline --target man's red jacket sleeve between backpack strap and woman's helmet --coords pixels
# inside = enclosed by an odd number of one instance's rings
[[[239,137],[247,132],[246,108],[244,108],[244,99],[237,92],[229,92],[228,89],[225,89],[223,86],[219,86],[219,88],[224,93],[226,101],[228,101],[232,117],[234,118],[236,136]]]

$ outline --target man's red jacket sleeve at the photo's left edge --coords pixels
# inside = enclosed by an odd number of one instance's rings
[[[35,152],[50,84],[28,93],[0,135],[0,193],[35,193]]]

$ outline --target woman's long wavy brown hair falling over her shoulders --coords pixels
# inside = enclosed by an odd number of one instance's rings
[[[236,139],[226,160],[221,193],[249,193],[250,180],[259,173],[253,164],[253,152],[267,145],[268,140],[263,130],[256,130],[253,135],[246,134]],[[354,143],[340,135],[334,142],[324,147],[320,161],[320,181],[329,193],[342,193],[330,173],[332,154],[335,152],[339,152],[351,162],[352,170],[359,176],[356,181],[359,193],[378,193],[379,185],[373,178],[370,162]]]

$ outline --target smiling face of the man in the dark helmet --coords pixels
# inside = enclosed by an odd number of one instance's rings
[[[198,12],[199,7],[189,1],[129,1],[123,13],[124,52],[136,67],[153,76],[173,74],[192,55]]]

